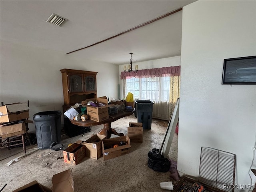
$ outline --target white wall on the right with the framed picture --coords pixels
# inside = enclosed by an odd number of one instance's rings
[[[236,154],[236,184],[251,184],[256,85],[221,82],[225,58],[256,55],[256,1],[198,1],[182,18],[178,170],[198,176],[208,146]]]

